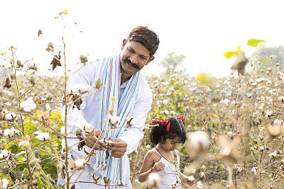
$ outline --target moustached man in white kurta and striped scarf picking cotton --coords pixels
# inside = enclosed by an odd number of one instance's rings
[[[142,130],[152,103],[151,89],[141,76],[140,70],[154,59],[153,55],[158,49],[158,45],[158,35],[147,27],[139,26],[131,31],[127,40],[123,40],[119,55],[100,59],[94,64],[87,64],[72,74],[68,81],[67,88],[70,89],[77,84],[95,86],[97,79],[102,79],[104,86],[94,95],[90,95],[94,93],[94,87],[89,93],[84,94],[86,98],[82,98],[80,110],[76,106],[68,109],[67,127],[72,132],[68,135],[67,143],[69,147],[76,144],[70,149],[72,159],[87,157],[84,150],[77,147],[79,139],[75,133],[78,128],[83,131],[82,135],[86,137],[87,146],[84,148],[89,150],[97,143],[98,133],[103,129],[111,128],[109,122],[104,125],[111,107],[114,108],[113,115],[117,115],[121,119],[116,125],[116,127],[120,127],[119,129],[103,132],[103,138],[111,137],[113,143],[107,145],[108,152],[99,145],[102,142],[96,144],[97,154],[89,159],[89,165],[75,183],[76,189],[85,187],[119,188],[119,185],[131,188],[127,154],[137,149],[139,141],[143,139]],[[113,97],[116,98],[114,104],[111,103]],[[127,116],[133,116],[136,125],[123,127],[126,124]],[[62,119],[64,120],[64,118],[65,107],[62,106]],[[84,134],[85,125],[96,127],[97,134]],[[65,147],[64,141],[62,141],[62,147]],[[98,181],[99,185],[90,183],[94,182],[93,174],[101,178]],[[71,182],[74,182],[79,175],[80,173],[75,173]],[[104,177],[110,180],[107,187],[100,186],[106,185],[102,179]],[[59,183],[60,185],[65,184],[62,178]]]

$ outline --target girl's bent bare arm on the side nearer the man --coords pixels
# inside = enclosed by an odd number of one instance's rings
[[[154,153],[155,153],[154,151],[148,151],[148,153],[146,154],[144,158],[144,161],[143,161],[143,164],[141,166],[141,169],[139,171],[139,176],[138,176],[138,181],[140,183],[147,181],[149,174],[152,173],[151,166],[155,163]],[[162,162],[156,162],[153,166],[153,172],[162,171],[164,168],[165,168],[165,164],[163,164]]]

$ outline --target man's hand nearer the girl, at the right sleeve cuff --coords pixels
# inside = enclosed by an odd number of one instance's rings
[[[107,145],[107,149],[111,150],[111,156],[121,158],[126,152],[127,143],[123,139],[113,139],[112,141]]]

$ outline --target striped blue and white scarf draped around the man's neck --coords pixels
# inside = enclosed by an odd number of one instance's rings
[[[105,119],[107,118],[107,112],[111,108],[112,101],[111,98],[114,97],[116,101],[119,101],[119,86],[121,83],[120,74],[120,54],[112,56],[107,62],[106,68],[104,69],[104,74],[102,76],[102,83],[104,88],[102,88],[102,95],[99,104],[99,115],[98,115],[98,126],[97,129],[102,130],[104,127]],[[121,121],[116,127],[122,127],[126,123],[126,117],[132,114],[136,97],[138,94],[138,86],[140,85],[141,74],[140,71],[136,72],[131,76],[124,93],[118,103],[114,103],[114,113],[113,115],[119,116]],[[109,129],[111,126],[109,122],[104,127],[104,130]],[[104,132],[103,138],[119,138],[124,132],[125,127],[109,130]],[[114,158],[111,156],[109,151],[109,158],[106,158],[106,151],[99,151],[96,154],[96,164],[94,164],[94,169],[98,170],[98,173],[102,178],[107,177],[111,179],[109,185],[118,185],[126,183],[126,168],[123,167],[126,162],[126,155],[121,158]]]

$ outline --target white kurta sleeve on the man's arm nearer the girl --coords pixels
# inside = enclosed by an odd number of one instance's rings
[[[139,142],[143,139],[143,128],[153,101],[151,91],[148,92],[146,94],[143,93],[143,98],[134,105],[132,116],[136,120],[136,125],[126,127],[126,130],[119,137],[119,139],[123,139],[127,143],[126,154],[136,150]]]

